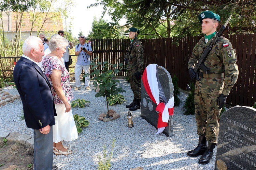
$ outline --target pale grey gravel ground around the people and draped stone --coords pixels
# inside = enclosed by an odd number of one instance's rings
[[[75,86],[74,83],[71,83]],[[186,152],[197,146],[195,116],[183,115],[183,105],[187,94],[181,92],[181,104],[174,107],[174,136],[167,137],[165,134],[155,135],[157,129],[140,117],[140,110],[131,112],[133,116],[133,128],[127,127],[128,109],[125,105],[133,100],[133,94],[129,83],[120,80],[120,86],[126,90],[127,100],[122,105],[109,106],[120,114],[120,118],[111,122],[98,120],[101,113],[106,113],[105,98],[95,98],[94,90],[81,89],[72,92],[75,99],[89,100],[90,103],[84,108],[72,108],[73,114],[84,116],[89,121],[89,126],[83,129],[77,140],[63,142],[72,150],[68,156],[54,155],[53,164],[59,169],[88,169],[96,170],[103,157],[103,146],[106,146],[107,156],[111,151],[111,144],[115,139],[113,157],[111,159],[112,170],[129,170],[142,167],[144,170],[170,170],[170,169],[214,169],[216,149],[212,160],[207,165],[198,164],[199,156],[188,157]],[[91,82],[90,88],[93,89]],[[4,91],[11,95],[18,95],[13,87],[5,87]],[[33,130],[28,129],[25,120],[20,120],[23,114],[22,102],[16,99],[13,103],[0,107],[0,131],[19,132],[33,136]]]

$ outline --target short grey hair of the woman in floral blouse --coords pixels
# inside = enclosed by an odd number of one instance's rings
[[[68,46],[68,41],[60,35],[52,36],[49,41],[49,49],[51,51],[56,51],[56,48],[66,48]]]

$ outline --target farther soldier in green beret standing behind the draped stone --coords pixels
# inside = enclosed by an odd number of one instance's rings
[[[127,71],[130,79],[130,86],[133,91],[133,102],[126,105],[130,111],[140,109],[141,99],[141,73],[144,64],[144,46],[138,39],[140,30],[137,28],[129,28],[129,38],[131,40],[131,51],[128,50],[125,55],[125,62],[127,63]],[[136,38],[134,39],[134,35]]]

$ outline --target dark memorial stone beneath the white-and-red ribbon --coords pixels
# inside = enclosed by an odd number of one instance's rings
[[[167,103],[173,97],[173,84],[170,73],[162,66],[157,66],[156,77],[158,80],[159,100]],[[158,112],[156,111],[157,104],[155,104],[148,96],[143,82],[141,82],[141,117],[148,123],[157,128]],[[173,116],[169,115],[168,126],[162,132],[168,137],[173,134]]]

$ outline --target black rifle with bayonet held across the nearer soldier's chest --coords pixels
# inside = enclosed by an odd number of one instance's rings
[[[204,50],[203,54],[201,55],[196,67],[194,68],[194,71],[196,73],[196,80],[199,81],[199,72],[202,70],[205,74],[208,74],[209,68],[207,68],[203,62],[206,60],[207,56],[209,55],[210,51],[212,50],[212,47],[216,44],[217,39],[223,34],[224,30],[226,29],[227,24],[229,23],[230,19],[232,17],[232,14],[228,17],[228,20],[219,29],[219,32],[217,32],[217,35],[214,39],[212,39],[211,44],[207,46],[207,48]],[[189,83],[187,84],[187,89],[191,90],[189,87],[189,84],[191,84],[193,81],[193,78],[190,79]]]

